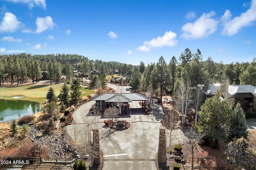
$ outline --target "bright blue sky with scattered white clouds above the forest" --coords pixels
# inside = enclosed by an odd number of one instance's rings
[[[224,64],[256,57],[256,0],[0,0],[0,54],[169,63],[189,48]]]

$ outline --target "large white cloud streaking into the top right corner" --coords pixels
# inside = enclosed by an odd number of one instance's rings
[[[248,27],[256,21],[256,0],[252,0],[250,8],[233,19],[230,10],[226,10],[221,17],[223,24],[222,34],[232,36],[235,35],[243,27]]]

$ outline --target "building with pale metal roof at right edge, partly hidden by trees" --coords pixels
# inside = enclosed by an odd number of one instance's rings
[[[208,94],[214,95],[223,85],[210,85]],[[256,110],[256,87],[252,85],[228,85],[228,93],[234,98],[234,105],[240,103],[242,108]]]

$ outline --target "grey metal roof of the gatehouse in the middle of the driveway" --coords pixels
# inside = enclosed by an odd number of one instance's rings
[[[92,100],[105,101],[105,102],[132,102],[132,101],[145,101],[148,100],[146,96],[138,93],[104,93],[96,96]]]

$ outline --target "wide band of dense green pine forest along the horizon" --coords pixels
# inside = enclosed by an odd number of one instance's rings
[[[131,83],[134,88],[145,91],[151,84],[154,89],[158,87],[174,90],[175,83],[181,80],[189,80],[192,86],[196,84],[225,83],[230,84],[251,84],[256,86],[256,59],[242,63],[223,64],[215,63],[211,57],[202,61],[202,54],[199,49],[192,53],[185,49],[181,55],[167,58],[160,57],[158,63],[151,63],[145,66],[141,61],[139,66],[123,64],[117,61],[104,62],[91,60],[77,54],[49,54],[31,55],[27,53],[0,55],[0,80],[2,84],[9,80],[12,84],[27,82],[29,78],[34,82],[42,78],[42,71],[48,72],[51,83],[58,83],[62,75],[67,79],[74,76],[73,69],[83,74],[89,74],[90,70],[98,70],[100,74],[112,75],[133,74]],[[250,62],[250,63],[249,63]],[[140,79],[139,81],[137,79]],[[159,82],[161,82],[159,84]]]

